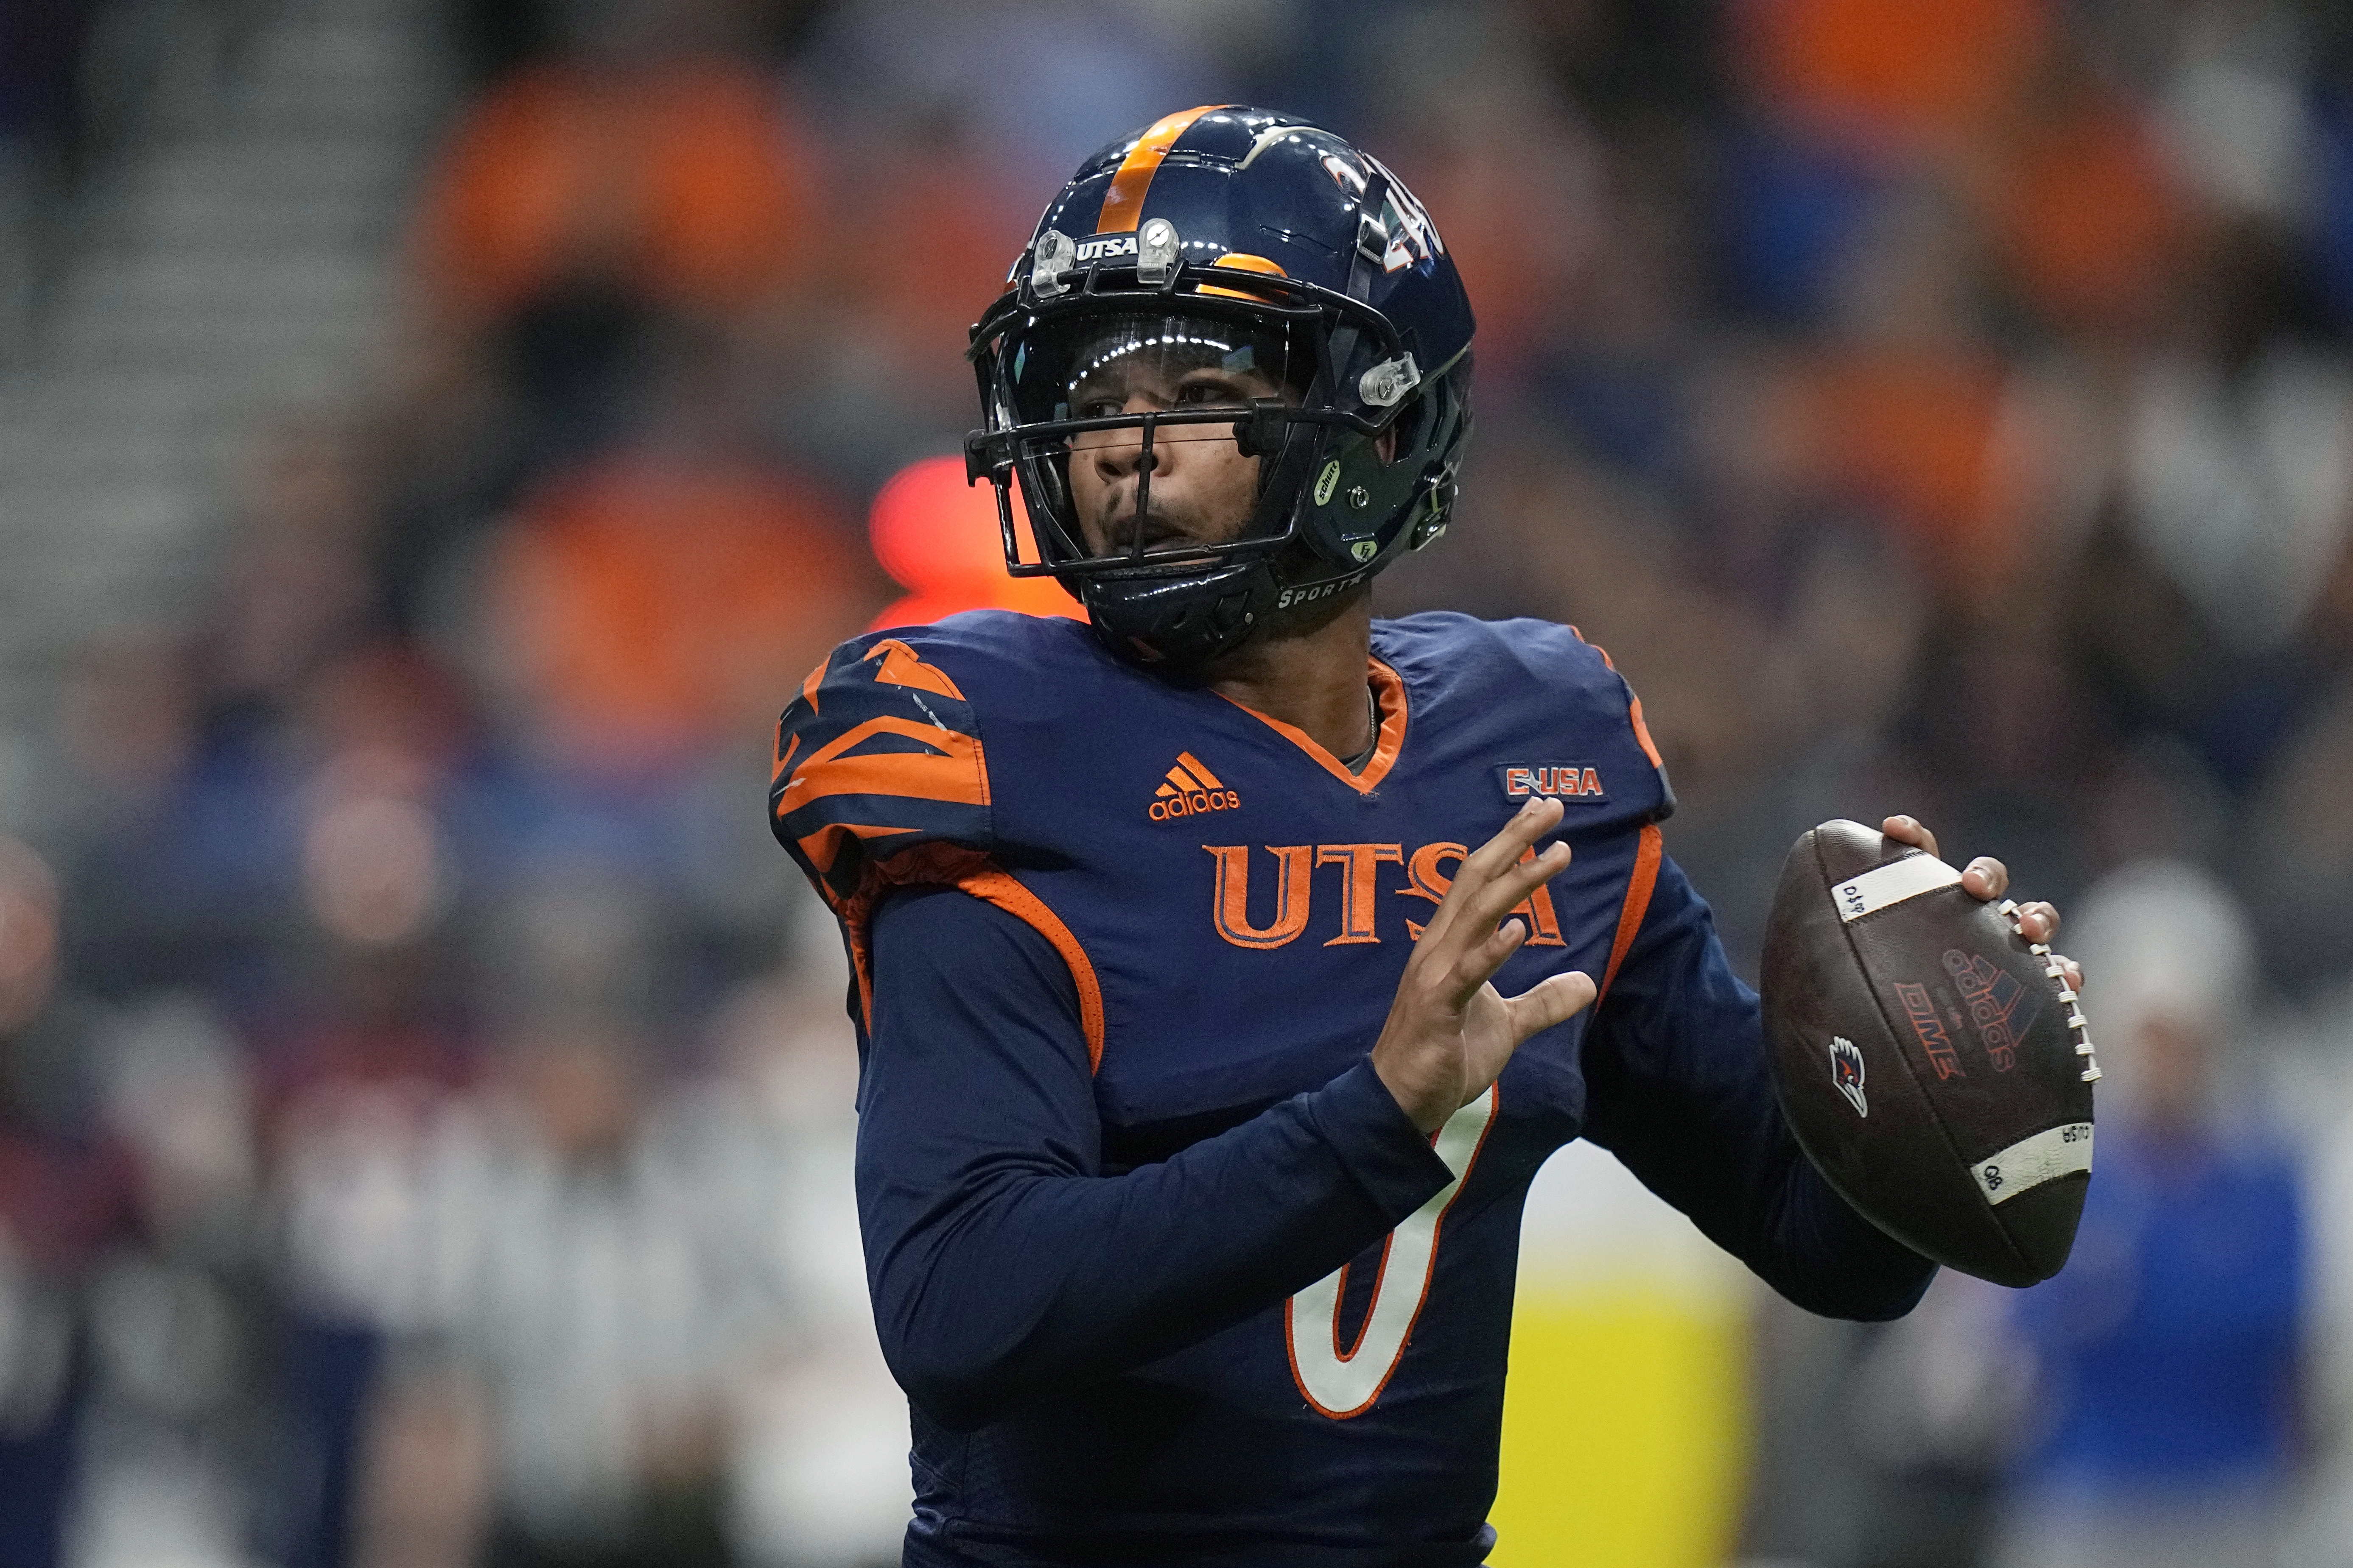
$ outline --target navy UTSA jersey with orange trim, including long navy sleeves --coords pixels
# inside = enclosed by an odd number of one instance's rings
[[[847,642],[786,710],[772,823],[856,971],[908,1563],[1485,1561],[1520,1204],[1579,1135],[1800,1305],[1927,1286],[1791,1140],[1607,658],[1414,616],[1369,682],[1358,773],[995,611]],[[1497,987],[1602,994],[1424,1138],[1367,1053],[1529,795],[1574,858]]]

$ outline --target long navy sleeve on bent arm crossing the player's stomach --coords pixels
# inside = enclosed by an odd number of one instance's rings
[[[946,1427],[1238,1324],[1449,1180],[1369,1060],[1162,1164],[1104,1175],[1061,954],[948,889],[899,893],[875,914],[856,1157],[866,1276],[892,1373]]]

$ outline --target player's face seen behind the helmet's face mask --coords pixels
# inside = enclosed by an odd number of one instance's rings
[[[1071,418],[1247,409],[1254,397],[1299,402],[1257,367],[1247,346],[1233,348],[1209,331],[1181,334],[1176,327],[1129,329],[1085,353],[1071,388]],[[1071,498],[1089,552],[1115,555],[1134,545],[1141,470],[1141,430],[1082,430],[1071,437]],[[1155,428],[1151,473],[1146,550],[1226,543],[1257,510],[1259,458],[1240,454],[1228,423]]]

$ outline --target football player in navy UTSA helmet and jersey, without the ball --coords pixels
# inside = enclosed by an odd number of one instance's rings
[[[1169,115],[1064,186],[972,362],[1007,559],[1092,628],[842,644],[769,802],[856,976],[906,1561],[1482,1563],[1520,1201],[1572,1138],[1791,1300],[1906,1312],[1932,1265],[1784,1126],[1607,656],[1372,621],[1471,428],[1412,193]]]

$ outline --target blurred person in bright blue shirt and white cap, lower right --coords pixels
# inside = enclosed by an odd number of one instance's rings
[[[2099,976],[2099,1164],[2066,1272],[2017,1300],[2042,1418],[2002,1561],[2275,1561],[2306,1241],[2301,1182],[2233,1081],[2245,917],[2202,872],[2141,863],[2082,898],[2068,943]]]

